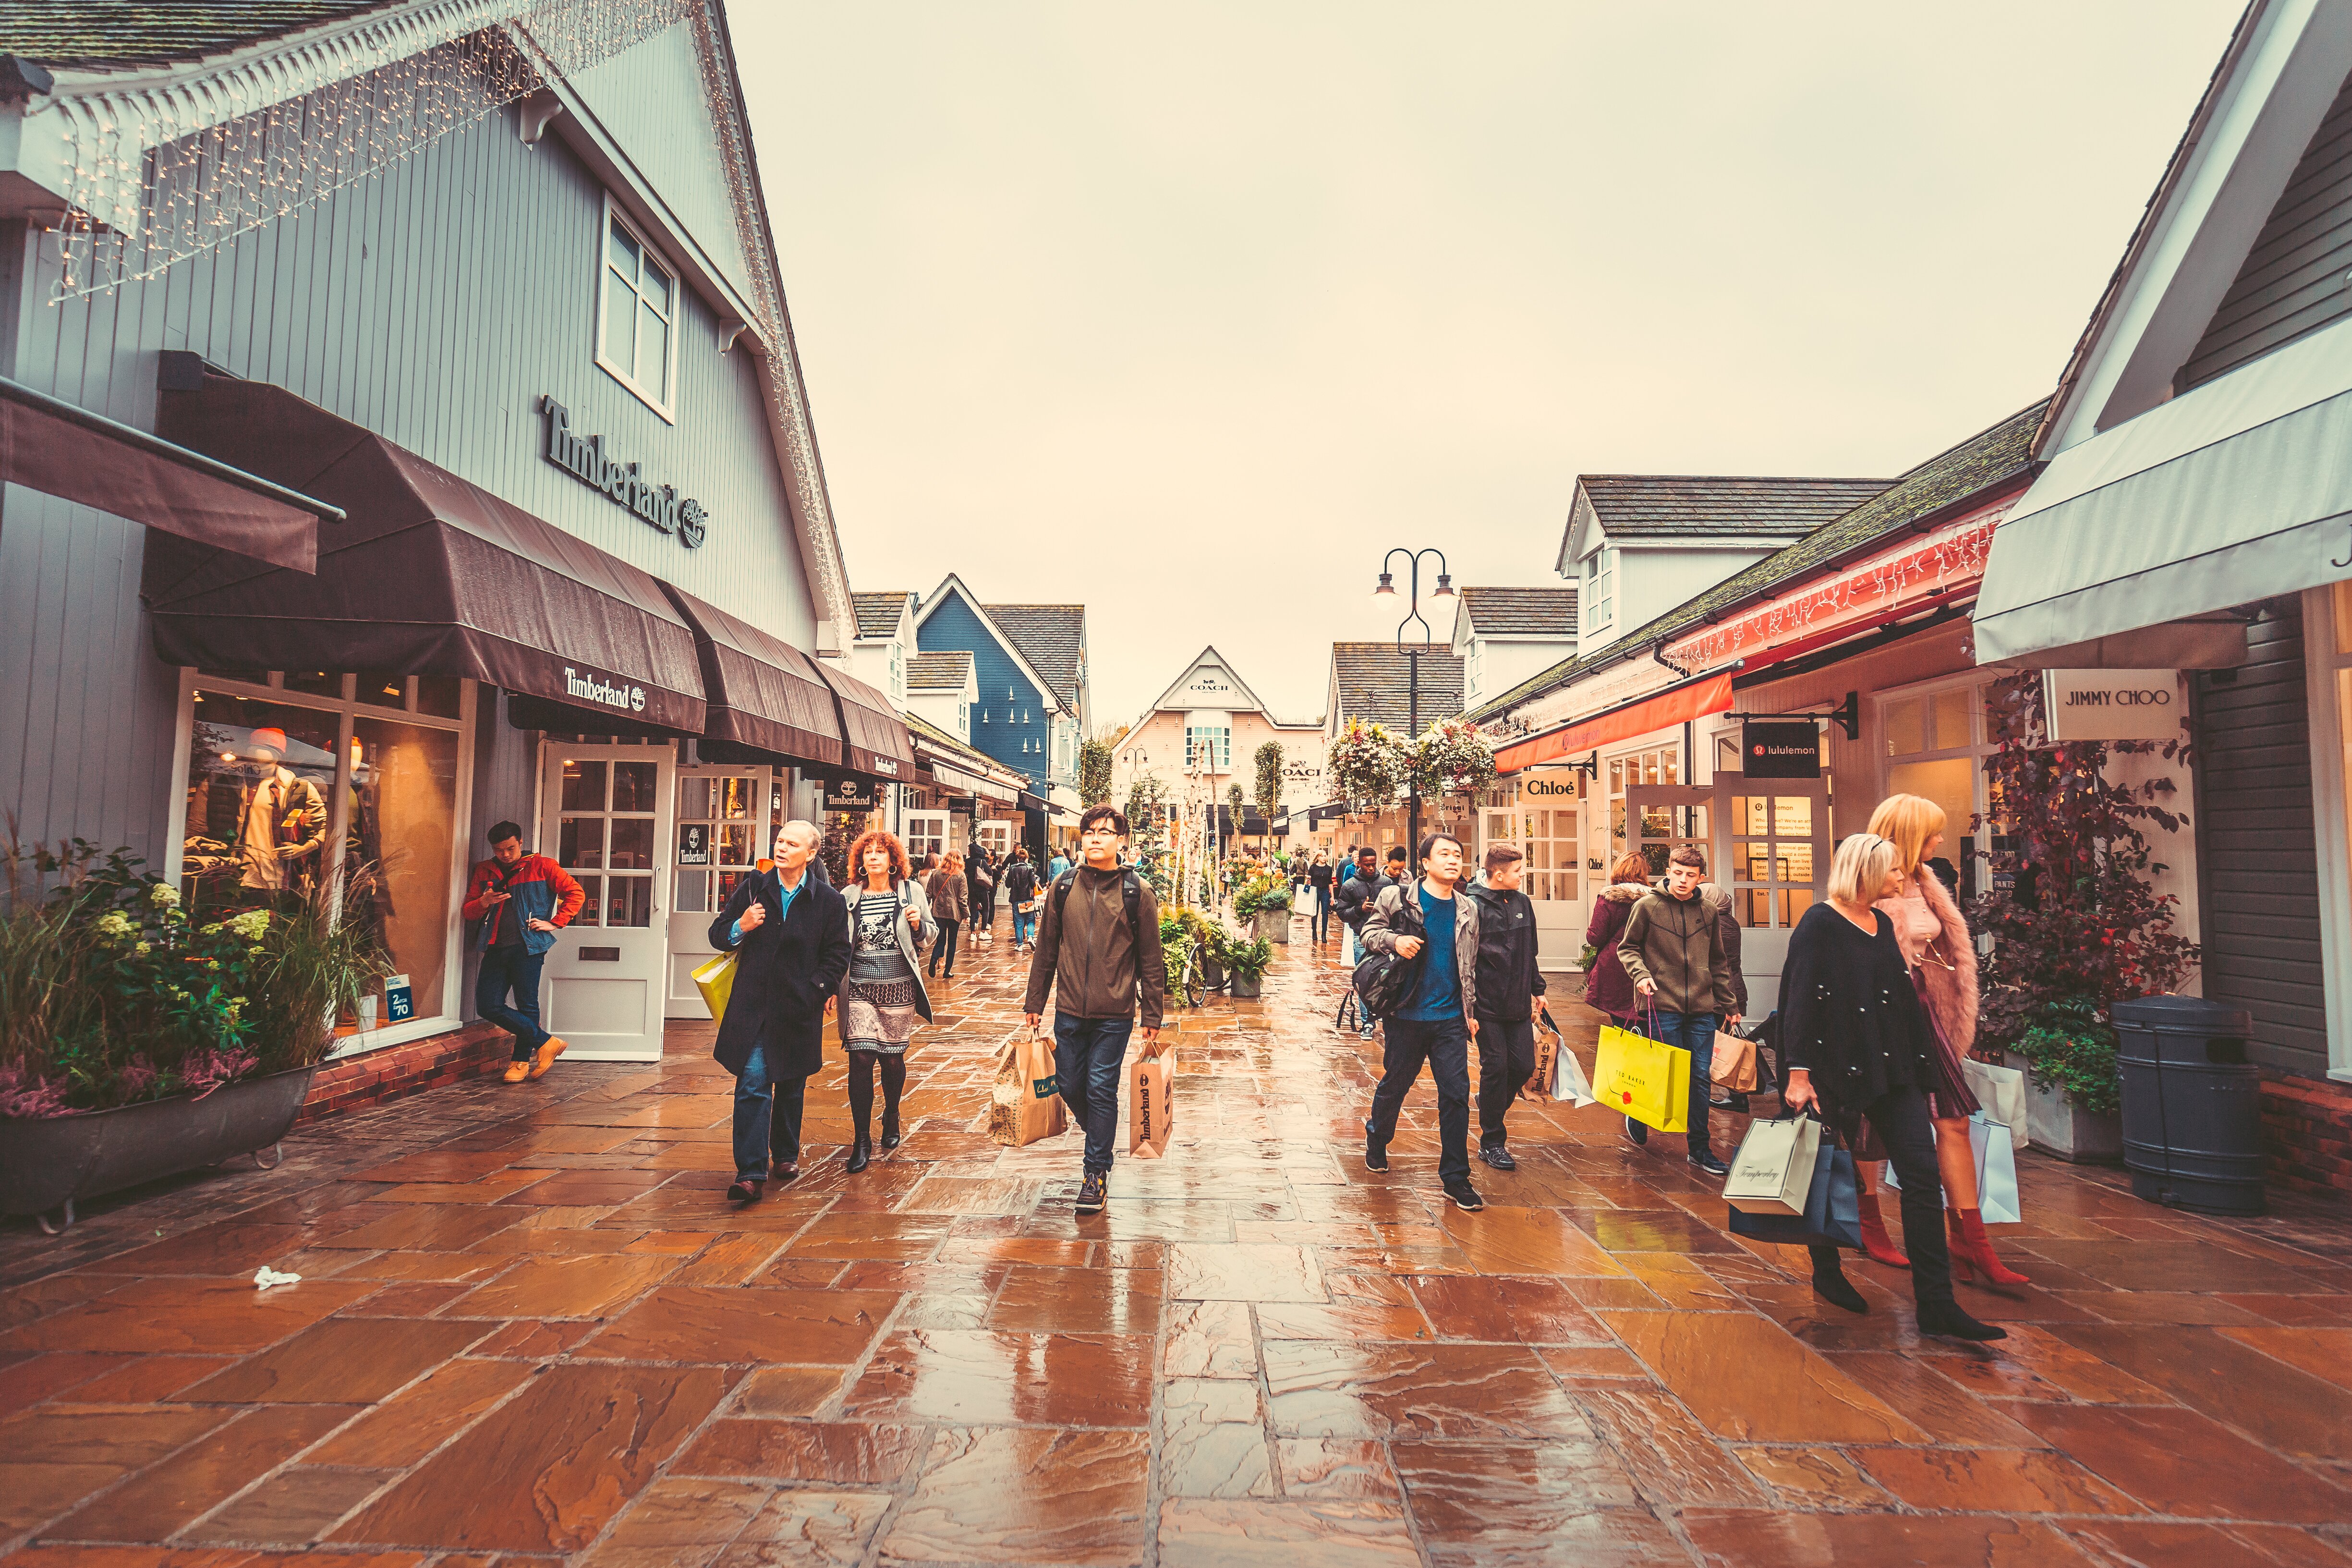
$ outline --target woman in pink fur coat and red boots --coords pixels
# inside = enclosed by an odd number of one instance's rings
[[[1903,961],[1929,1023],[1936,1025],[1936,1048],[1929,1065],[1933,1081],[1929,1107],[1936,1114],[1936,1166],[1943,1171],[1945,1225],[1952,1241],[1952,1272],[1959,1279],[1983,1274],[1987,1284],[2023,1286],[2025,1274],[2002,1265],[1985,1237],[1978,1213],[1976,1150],[1969,1143],[1969,1117],[1978,1112],[1969,1093],[1962,1060],[1976,1046],[1976,943],[1952,893],[1929,870],[1926,860],[1943,846],[1943,806],[1919,795],[1891,795],[1870,813],[1870,832],[1896,846],[1903,858],[1903,891],[1879,900],[1896,924]]]

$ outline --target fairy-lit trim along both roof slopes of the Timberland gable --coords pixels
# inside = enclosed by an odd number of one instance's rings
[[[734,226],[753,259],[750,327],[767,376],[800,512],[816,520],[811,567],[837,621],[849,578],[816,468],[809,411],[757,202],[757,172],[734,113],[736,85],[708,0],[445,0],[223,71],[202,87],[82,92],[61,101],[68,209],[52,237],[52,303],[89,299],[299,219],[440,139],[576,80],[656,33],[689,21],[717,155],[736,193]],[[379,63],[369,63],[379,61]],[[301,89],[306,80],[315,87]]]

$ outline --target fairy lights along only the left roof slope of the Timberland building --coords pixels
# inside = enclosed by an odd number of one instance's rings
[[[289,219],[555,78],[682,21],[689,0],[449,5],[440,38],[355,33],[202,89],[78,94],[66,129],[68,209],[56,299],[85,299]],[[322,54],[383,56],[308,92]]]

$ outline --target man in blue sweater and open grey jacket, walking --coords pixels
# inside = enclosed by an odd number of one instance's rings
[[[1404,1001],[1388,1018],[1381,1086],[1364,1124],[1364,1168],[1388,1168],[1388,1140],[1421,1065],[1437,1084],[1437,1180],[1456,1208],[1484,1208],[1470,1185],[1470,1041],[1477,1039],[1477,900],[1456,893],[1463,846],[1449,832],[1421,839],[1421,882],[1381,889],[1364,917],[1364,950],[1414,964]],[[1414,900],[1411,910],[1406,900]],[[1418,914],[1418,919],[1414,919]]]

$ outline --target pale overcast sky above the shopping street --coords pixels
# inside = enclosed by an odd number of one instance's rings
[[[1388,545],[1578,473],[1893,475],[2046,395],[2239,0],[903,5],[731,28],[858,590],[1277,712]],[[1442,630],[1442,628],[1439,628]]]

